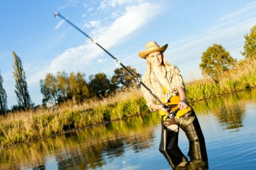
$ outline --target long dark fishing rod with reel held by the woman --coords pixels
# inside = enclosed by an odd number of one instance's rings
[[[70,24],[71,26],[73,26],[73,28],[75,28],[76,30],[78,30],[79,32],[81,32],[82,34],[84,34],[84,36],[86,36],[87,38],[89,38],[94,44],[96,44],[97,46],[99,46],[102,50],[104,50],[104,52],[106,52],[109,56],[111,56],[115,62],[117,62],[119,65],[121,65],[126,71],[128,71],[128,73],[130,73],[135,80],[137,81],[137,83],[143,85],[143,87],[145,87],[145,89],[147,89],[150,94],[156,99],[156,101],[158,101],[158,103],[160,103],[160,105],[162,105],[163,108],[165,108],[169,115],[168,118],[174,118],[177,114],[177,112],[179,111],[179,108],[177,110],[174,110],[173,112],[170,112],[170,108],[168,108],[168,105],[166,105],[165,103],[163,103],[152,91],[150,88],[148,88],[147,85],[145,85],[141,79],[139,79],[139,77],[137,77],[135,74],[133,74],[133,72],[131,72],[127,67],[125,67],[125,65],[123,65],[122,62],[120,62],[119,60],[117,60],[117,58],[115,58],[115,56],[113,56],[112,54],[110,54],[110,52],[108,52],[105,48],[103,48],[102,46],[100,46],[100,44],[98,44],[98,42],[96,42],[94,39],[92,39],[90,36],[88,36],[88,34],[86,34],[85,32],[83,32],[80,28],[78,28],[77,26],[75,26],[75,24],[73,24],[72,22],[70,22],[68,19],[66,19],[63,15],[61,15],[59,12],[55,12],[55,17],[61,17],[62,19],[65,20],[65,22],[67,22],[68,24]]]

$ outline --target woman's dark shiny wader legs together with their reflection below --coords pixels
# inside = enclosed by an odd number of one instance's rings
[[[197,118],[187,125],[182,126],[189,139],[189,158],[183,155],[178,146],[179,133],[162,126],[161,141],[159,151],[164,155],[172,169],[208,169],[207,153],[203,133]]]

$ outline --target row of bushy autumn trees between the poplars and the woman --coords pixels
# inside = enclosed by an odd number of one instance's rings
[[[141,77],[136,69],[127,66],[133,74]],[[51,73],[40,81],[40,91],[43,95],[42,103],[57,104],[72,100],[73,103],[82,103],[85,99],[97,97],[102,99],[108,95],[128,87],[136,87],[135,79],[123,69],[115,69],[113,77],[107,77],[104,73],[90,75],[89,81],[80,72],[67,73],[58,72],[57,75]]]

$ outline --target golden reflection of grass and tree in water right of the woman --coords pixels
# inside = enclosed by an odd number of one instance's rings
[[[256,99],[255,90],[197,102],[193,104],[193,108],[195,112],[216,116],[225,129],[239,130],[243,127],[247,101],[251,99]]]

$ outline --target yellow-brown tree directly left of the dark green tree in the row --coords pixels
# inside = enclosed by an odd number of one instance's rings
[[[81,103],[84,99],[90,97],[88,85],[82,73],[78,72],[77,75],[70,73],[67,81],[69,83],[69,99]]]

